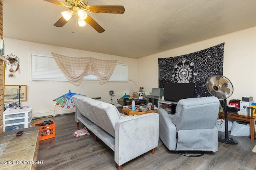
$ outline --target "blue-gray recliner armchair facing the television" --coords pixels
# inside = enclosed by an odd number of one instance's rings
[[[211,96],[180,100],[174,115],[159,109],[160,139],[169,150],[216,152],[219,107],[218,98]]]

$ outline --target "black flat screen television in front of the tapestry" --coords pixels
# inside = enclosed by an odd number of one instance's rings
[[[194,83],[165,83],[164,100],[178,102],[180,99],[194,98]]]

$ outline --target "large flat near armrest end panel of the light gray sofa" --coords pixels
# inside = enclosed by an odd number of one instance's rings
[[[115,162],[122,165],[158,146],[159,115],[121,119],[115,125]]]

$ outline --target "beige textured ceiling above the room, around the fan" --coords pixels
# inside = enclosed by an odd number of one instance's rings
[[[256,26],[255,0],[88,0],[125,8],[124,14],[89,14],[103,33],[89,24],[78,27],[76,20],[53,26],[66,7],[2,2],[4,37],[136,59]]]

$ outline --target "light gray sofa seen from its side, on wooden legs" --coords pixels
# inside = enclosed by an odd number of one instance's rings
[[[96,137],[114,151],[114,160],[122,164],[158,146],[159,116],[148,113],[126,116],[112,105],[86,96],[72,97],[76,104],[76,122],[83,123]],[[142,167],[143,169],[143,167]]]

